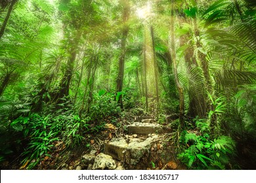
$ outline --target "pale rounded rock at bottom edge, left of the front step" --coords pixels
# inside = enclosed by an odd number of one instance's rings
[[[98,170],[98,169],[116,169],[116,162],[114,159],[106,154],[100,153],[96,156],[95,162],[93,163],[93,170]]]

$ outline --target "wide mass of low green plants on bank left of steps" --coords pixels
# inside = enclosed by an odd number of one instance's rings
[[[63,141],[67,147],[74,148],[83,143],[83,135],[89,132],[87,119],[81,120],[76,115],[39,116],[31,114],[14,120],[10,127],[21,131],[24,140],[28,141],[22,152],[22,164],[33,169],[45,156],[51,157],[53,142]]]

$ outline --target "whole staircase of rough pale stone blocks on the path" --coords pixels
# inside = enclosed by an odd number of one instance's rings
[[[144,169],[150,163],[154,142],[171,129],[158,124],[152,116],[139,116],[137,122],[127,125],[127,135],[104,144],[104,154],[112,156],[125,169]]]

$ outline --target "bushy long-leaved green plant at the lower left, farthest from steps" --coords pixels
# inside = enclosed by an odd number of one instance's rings
[[[11,123],[11,127],[16,131],[22,131],[24,138],[29,139],[28,146],[22,153],[25,158],[22,160],[22,167],[32,169],[45,156],[51,156],[53,142],[58,141],[58,131],[52,131],[48,116],[45,118],[38,114],[29,117],[20,117]]]

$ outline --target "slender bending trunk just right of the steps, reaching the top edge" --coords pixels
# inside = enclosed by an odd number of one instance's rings
[[[175,54],[175,35],[174,35],[174,0],[171,0],[171,56],[173,60],[173,73],[175,76],[175,83],[179,91],[179,132],[184,129],[184,93],[179,82],[177,62]]]

